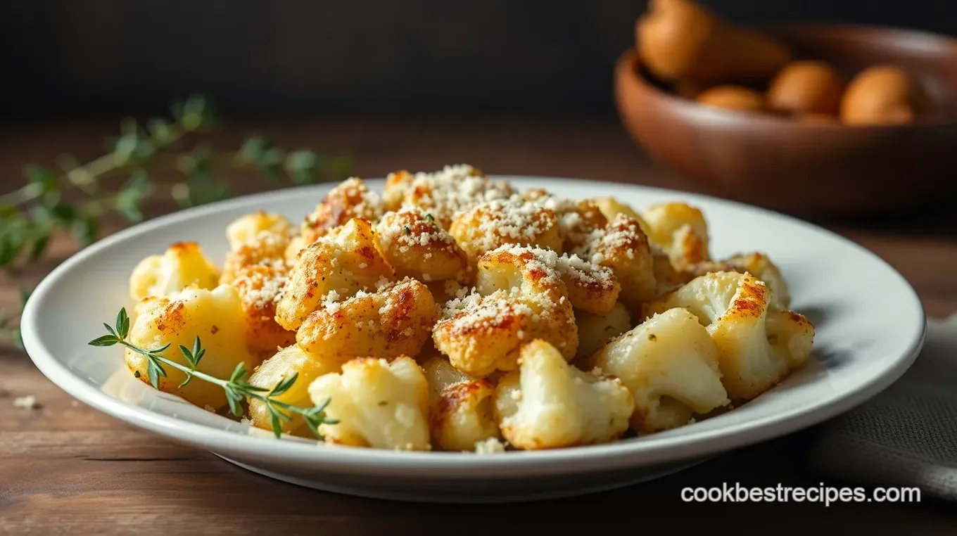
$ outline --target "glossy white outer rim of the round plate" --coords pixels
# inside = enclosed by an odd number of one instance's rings
[[[474,453],[458,452],[401,452],[389,450],[342,448],[323,444],[312,444],[310,441],[283,441],[273,437],[256,435],[242,435],[226,430],[219,430],[205,425],[192,423],[164,414],[153,413],[144,408],[123,403],[109,394],[100,391],[79,378],[66,366],[62,365],[54,355],[48,351],[38,336],[35,326],[39,305],[49,294],[57,279],[69,273],[73,266],[98,255],[101,250],[111,247],[130,237],[148,234],[156,229],[181,220],[202,217],[207,213],[229,211],[254,203],[266,203],[282,198],[294,197],[301,192],[320,192],[332,188],[335,183],[323,183],[280,190],[271,190],[242,195],[233,199],[219,201],[194,207],[183,211],[171,212],[143,223],[128,227],[115,234],[110,234],[97,243],[82,249],[68,257],[56,266],[36,286],[21,314],[21,328],[23,343],[30,355],[33,364],[58,388],[66,391],[84,404],[87,404],[101,413],[106,413],[123,422],[145,429],[153,434],[167,437],[173,441],[188,443],[209,451],[220,452],[234,457],[256,456],[276,460],[302,461],[312,464],[322,464],[323,469],[337,471],[363,471],[380,473],[388,471],[392,474],[414,475],[422,478],[423,470],[442,467],[441,475],[435,478],[446,479],[453,476],[528,476],[529,474],[550,473],[556,468],[571,474],[588,472],[592,469],[609,469],[614,467],[638,467],[680,461],[682,459],[700,458],[718,454],[734,448],[740,448],[773,437],[785,436],[814,424],[823,422],[839,413],[844,413],[871,397],[883,391],[894,383],[908,369],[917,358],[924,346],[926,336],[926,315],[923,303],[913,286],[900,272],[883,258],[857,242],[837,234],[813,223],[795,218],[788,214],[775,212],[761,207],[747,205],[710,195],[670,190],[657,187],[646,187],[630,183],[616,183],[589,179],[575,179],[568,177],[549,177],[534,175],[488,175],[493,180],[507,180],[513,183],[567,183],[569,186],[595,185],[614,186],[632,190],[634,194],[653,192],[658,195],[674,196],[682,201],[694,202],[701,200],[708,204],[724,206],[727,209],[745,212],[758,212],[786,220],[788,223],[801,227],[810,227],[813,231],[827,234],[844,245],[857,248],[860,252],[871,257],[887,268],[908,293],[908,298],[916,304],[919,318],[919,333],[912,335],[912,340],[906,346],[901,357],[892,367],[884,369],[870,383],[857,386],[857,389],[844,391],[823,402],[817,402],[810,407],[793,410],[786,413],[768,415],[764,418],[750,419],[745,422],[731,423],[715,431],[688,432],[682,436],[645,438],[641,443],[615,441],[599,445],[571,447],[545,451],[516,451],[494,456],[479,456]],[[368,185],[382,184],[384,179],[364,179]],[[667,443],[659,445],[658,443]],[[647,451],[647,452],[646,452]],[[516,469],[523,473],[517,475]]]

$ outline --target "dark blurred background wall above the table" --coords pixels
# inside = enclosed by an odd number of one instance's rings
[[[951,0],[704,0],[738,22],[957,33]],[[640,0],[4,0],[13,116],[612,112]]]

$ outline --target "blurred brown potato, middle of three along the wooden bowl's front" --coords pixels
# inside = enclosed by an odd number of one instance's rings
[[[824,61],[789,63],[768,85],[768,107],[790,114],[836,116],[844,80]]]

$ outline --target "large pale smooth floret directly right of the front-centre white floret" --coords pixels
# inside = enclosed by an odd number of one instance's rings
[[[652,433],[688,424],[729,400],[721,383],[718,347],[680,308],[669,309],[599,349],[590,366],[619,378],[634,397],[631,425]]]

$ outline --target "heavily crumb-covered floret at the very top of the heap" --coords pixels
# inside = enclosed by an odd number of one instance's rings
[[[508,183],[493,181],[476,167],[462,164],[433,173],[389,173],[383,197],[386,210],[418,207],[431,213],[443,229],[449,229],[458,214],[515,193]]]

